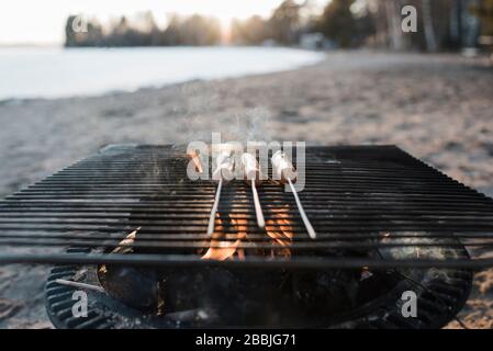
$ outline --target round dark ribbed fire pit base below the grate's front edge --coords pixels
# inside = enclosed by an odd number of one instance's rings
[[[81,249],[71,250],[71,252],[80,251]],[[455,253],[459,257],[468,257],[463,249],[456,249]],[[296,286],[299,291],[293,296],[305,295],[305,299],[303,301],[304,305],[302,306],[300,306],[300,301],[293,301],[293,305],[291,306],[278,305],[272,307],[268,297],[264,299],[264,305],[261,303],[259,304],[259,301],[255,302],[257,305],[253,304],[253,301],[249,301],[250,305],[243,303],[238,305],[235,304],[237,301],[224,299],[224,296],[219,296],[216,301],[219,305],[214,306],[211,304],[211,296],[206,292],[194,291],[195,288],[200,288],[200,286],[188,286],[182,293],[175,294],[173,296],[178,297],[178,299],[180,297],[184,299],[184,302],[181,302],[181,306],[190,303],[187,298],[190,298],[191,295],[197,297],[202,293],[204,294],[204,298],[202,299],[204,303],[201,304],[201,299],[197,299],[195,303],[199,301],[199,305],[195,305],[195,307],[199,308],[169,312],[165,307],[164,313],[161,313],[157,306],[158,304],[156,304],[158,297],[155,295],[159,295],[159,284],[157,282],[163,282],[163,280],[157,279],[156,272],[158,270],[146,269],[143,271],[139,269],[137,271],[137,269],[108,267],[109,271],[113,270],[116,274],[112,278],[108,276],[110,281],[104,281],[101,280],[100,268],[94,265],[60,265],[53,269],[46,285],[46,309],[55,327],[64,329],[231,327],[430,329],[446,326],[457,315],[463,307],[472,286],[472,272],[464,269],[372,271],[372,275],[360,281],[356,290],[354,286],[355,281],[348,279],[351,273],[347,271],[333,271],[328,276],[335,280],[338,274],[343,275],[346,279],[346,286],[343,286],[341,279],[337,288],[339,294],[330,296],[332,298],[326,296],[326,299],[323,299],[324,297],[320,295],[321,286],[314,284],[314,280],[306,279],[314,273],[298,272],[295,273],[298,274],[298,279],[304,279],[305,284],[298,282],[299,285]],[[122,276],[125,275],[117,274],[122,270],[130,270],[127,271],[127,278],[123,282]],[[80,274],[80,272],[85,273]],[[146,278],[143,278],[144,275],[138,272],[145,272]],[[182,270],[177,270],[176,273],[180,276],[188,275],[189,279],[184,281],[187,284],[190,283],[190,276],[194,276],[190,271],[183,272]],[[224,271],[206,273],[215,274],[220,280],[224,279],[224,275],[222,275]],[[229,271],[229,273],[232,272]],[[243,274],[242,279],[245,279],[249,274],[259,284],[259,293],[266,292],[266,288],[268,288],[259,280],[259,273],[256,271],[238,274]],[[272,272],[267,274],[272,274]],[[318,274],[324,273],[318,272]],[[128,279],[128,276],[138,278]],[[264,279],[266,276],[262,275]],[[103,286],[108,293],[88,292],[88,317],[75,318],[71,314],[71,308],[75,304],[72,294],[77,288],[59,285],[55,282],[56,279],[77,280],[82,283]],[[291,279],[293,278],[291,276]],[[272,283],[272,281],[270,282]],[[216,283],[219,281],[212,281],[212,284]],[[223,283],[225,282],[223,281]],[[117,286],[123,288],[119,290]],[[233,290],[228,294],[235,294],[234,287],[228,286],[228,288]],[[351,294],[349,292],[351,288],[357,294],[356,299],[358,301],[358,306],[349,306],[347,304],[347,294]],[[334,293],[335,290],[333,291]],[[128,294],[128,291],[133,293]],[[417,318],[402,317],[401,307],[403,301],[401,296],[405,291],[413,291],[417,294]],[[244,301],[249,297],[251,295],[243,294],[237,299]],[[299,307],[305,309],[304,314],[298,315],[295,307],[293,307],[296,303]],[[180,306],[180,304],[175,305]],[[219,308],[201,308],[208,306]],[[242,310],[238,306],[243,306],[244,309]],[[288,310],[287,308],[291,308],[292,310]],[[242,314],[242,312],[247,312],[249,315]],[[209,314],[209,316],[205,317],[204,313],[205,315]]]

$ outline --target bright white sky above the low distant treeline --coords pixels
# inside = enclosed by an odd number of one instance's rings
[[[0,45],[61,44],[69,14],[96,15],[101,21],[153,11],[158,24],[168,13],[216,16],[227,27],[231,19],[268,16],[281,0],[1,0]]]

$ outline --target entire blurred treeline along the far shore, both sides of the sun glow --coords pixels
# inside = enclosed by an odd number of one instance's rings
[[[234,20],[228,41],[436,52],[475,46],[481,31],[493,33],[493,0],[332,0],[323,8],[312,3],[284,0],[267,19]],[[417,10],[415,33],[402,31],[405,5]],[[76,20],[67,20],[66,46],[216,45],[224,37],[216,19],[197,14],[172,15],[166,29],[156,24],[150,12],[132,20],[122,16],[105,26],[93,19],[83,31],[77,31]]]

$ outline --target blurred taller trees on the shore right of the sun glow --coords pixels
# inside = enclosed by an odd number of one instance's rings
[[[402,31],[405,5],[416,9],[416,32]],[[285,0],[270,19],[235,21],[232,39],[292,45],[313,33],[323,35],[329,47],[427,52],[472,47],[481,34],[493,33],[493,0],[332,0],[318,14],[311,11],[310,1]]]

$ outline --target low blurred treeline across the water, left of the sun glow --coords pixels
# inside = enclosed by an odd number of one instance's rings
[[[104,27],[97,19],[71,15],[65,27],[65,46],[177,46],[216,45],[221,42],[221,25],[216,19],[191,15],[171,15],[168,25],[160,30],[150,12]]]

